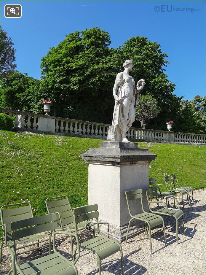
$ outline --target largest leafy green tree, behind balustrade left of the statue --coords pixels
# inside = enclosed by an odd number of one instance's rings
[[[97,27],[76,31],[41,58],[41,89],[54,115],[111,123],[118,64],[110,43]]]

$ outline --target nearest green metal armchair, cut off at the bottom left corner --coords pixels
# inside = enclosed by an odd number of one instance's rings
[[[78,274],[77,268],[75,266],[75,263],[80,256],[78,238],[74,233],[64,233],[76,238],[78,257],[76,257],[76,260],[72,263],[63,255],[58,253],[55,248],[55,235],[60,234],[60,232],[55,232],[55,229],[57,228],[57,219],[58,214],[54,213],[11,223],[12,245],[8,247],[8,250],[12,256],[12,269],[9,271],[9,274],[11,274],[11,272],[13,272],[13,274],[17,274],[16,271],[18,271],[20,274]],[[19,264],[17,261],[17,255],[19,254],[16,252],[17,241],[19,239],[26,238],[27,236],[39,234],[45,231],[53,232],[54,253],[28,261],[26,263]],[[49,242],[50,241],[51,239],[49,235]],[[30,244],[30,246],[32,245],[33,244]],[[45,245],[39,246],[39,248],[41,247],[45,247]],[[39,248],[31,247],[28,251],[33,251]]]

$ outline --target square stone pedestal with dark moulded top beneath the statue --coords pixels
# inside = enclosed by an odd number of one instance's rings
[[[89,164],[88,204],[98,204],[100,231],[122,242],[130,220],[125,191],[142,189],[143,206],[148,211],[145,190],[149,186],[149,163],[157,155],[139,149],[137,143],[100,142],[81,155]],[[140,201],[130,201],[132,214],[141,212]],[[142,225],[134,222],[130,235]]]

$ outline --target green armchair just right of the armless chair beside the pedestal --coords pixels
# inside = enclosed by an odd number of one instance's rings
[[[148,205],[149,205],[149,210],[154,213],[154,214],[161,214],[161,215],[166,215],[166,216],[170,216],[175,218],[176,221],[176,235],[177,235],[177,244],[178,244],[178,220],[179,218],[182,217],[182,223],[183,223],[183,234],[185,232],[185,225],[184,225],[184,213],[183,211],[180,209],[178,200],[175,196],[174,199],[176,199],[177,201],[177,205],[178,205],[178,209],[174,209],[174,208],[169,208],[167,207],[167,204],[164,201],[159,201],[158,200],[158,191],[157,191],[157,186],[153,186],[153,187],[149,187],[146,190],[146,196],[147,196],[147,201],[148,201]],[[149,201],[150,198],[156,198],[156,201]],[[157,204],[158,208],[155,210],[151,209],[150,204]],[[159,204],[164,204],[165,206],[159,206]]]

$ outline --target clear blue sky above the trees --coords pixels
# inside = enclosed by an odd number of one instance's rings
[[[5,4],[21,4],[22,17],[5,18]],[[97,26],[109,32],[114,48],[132,36],[158,42],[170,61],[166,74],[175,94],[188,100],[205,95],[205,1],[8,0],[1,1],[1,26],[17,50],[17,70],[31,77],[40,78],[49,47],[66,34]]]

